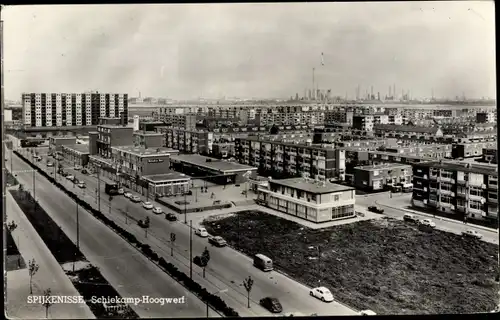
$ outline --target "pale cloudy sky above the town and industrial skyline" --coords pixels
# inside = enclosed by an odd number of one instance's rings
[[[496,96],[493,1],[7,6],[5,97]],[[321,65],[323,53],[324,65]]]

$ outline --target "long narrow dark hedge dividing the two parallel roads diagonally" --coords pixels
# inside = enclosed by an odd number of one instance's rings
[[[148,244],[143,244],[137,238],[127,230],[118,226],[113,220],[109,219],[105,215],[103,215],[100,211],[94,209],[90,204],[80,199],[73,192],[67,190],[61,183],[57,182],[53,177],[48,175],[45,171],[41,170],[33,163],[28,161],[24,156],[22,156],[19,152],[14,151],[14,153],[27,162],[33,169],[35,169],[38,173],[43,175],[47,180],[49,180],[52,184],[61,189],[66,195],[68,195],[71,199],[75,200],[78,205],[86,209],[90,212],[95,218],[99,219],[106,226],[113,229],[116,233],[118,233],[122,238],[127,240],[130,244],[135,245],[140,251],[153,262],[156,262],[157,265],[172,278],[182,283],[187,289],[196,294],[202,301],[208,303],[214,309],[222,312],[226,317],[239,317],[238,312],[233,308],[229,307],[224,300],[222,300],[219,296],[214,295],[207,291],[204,287],[202,287],[199,283],[192,280],[188,275],[184,272],[180,271],[176,266],[172,263],[167,262],[165,258],[160,257],[156,252],[151,249],[151,246]]]

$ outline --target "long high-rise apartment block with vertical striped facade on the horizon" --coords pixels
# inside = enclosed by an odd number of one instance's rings
[[[23,93],[25,127],[96,126],[100,117],[128,121],[128,95],[111,93]]]

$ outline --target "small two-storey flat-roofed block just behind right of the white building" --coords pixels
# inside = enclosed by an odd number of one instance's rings
[[[408,164],[383,163],[354,168],[354,186],[367,191],[384,190],[397,184],[411,183],[412,168]]]

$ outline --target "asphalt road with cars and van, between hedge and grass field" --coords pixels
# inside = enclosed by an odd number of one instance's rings
[[[51,158],[52,159],[52,158]],[[45,167],[45,161],[38,162],[48,172],[53,172],[53,168]],[[65,167],[68,167],[66,165]],[[66,169],[73,173],[78,180],[82,179],[86,182],[85,190],[76,192],[81,194],[82,198],[90,204],[96,206],[96,188],[97,179],[92,176],[83,175],[78,171]],[[64,181],[65,178],[58,175],[58,181]],[[67,180],[66,180],[67,181]],[[70,188],[73,184],[69,181],[64,182]],[[136,194],[135,192],[132,192]],[[189,274],[189,226],[181,222],[169,222],[163,215],[155,215],[151,210],[145,210],[140,203],[133,203],[123,196],[115,196],[112,201],[111,213],[109,211],[109,196],[104,193],[104,183],[101,182],[101,212],[108,215],[116,223],[125,227],[132,232],[140,241],[151,245],[153,250],[164,256],[170,255],[170,233],[176,234],[174,246],[174,261],[173,263]],[[142,200],[145,200],[141,197]],[[169,210],[155,203],[155,206],[160,206],[165,212]],[[97,207],[97,206],[96,206]],[[125,212],[128,210],[128,222],[125,224]],[[196,214],[196,213],[192,213]],[[189,216],[192,215],[188,214]],[[144,219],[149,216],[151,227],[148,230],[148,237],[145,238],[145,232],[141,230],[136,223],[131,223],[130,220]],[[180,220],[184,221],[184,216],[179,216]],[[258,301],[267,296],[276,297],[283,305],[283,313],[294,313],[303,315],[356,315],[357,312],[341,303],[323,303],[309,296],[309,288],[300,284],[287,276],[276,272],[262,272],[253,267],[252,260],[233,250],[229,247],[215,248],[208,244],[207,239],[193,235],[193,257],[202,253],[205,247],[210,251],[210,262],[206,270],[206,279],[202,278],[202,270],[193,264],[193,278],[200,284],[207,287],[212,292],[220,292],[219,295],[228,305],[237,310],[242,316],[266,316],[270,313],[258,305]],[[247,292],[242,285],[243,280],[251,276],[254,279],[253,289],[251,291],[251,308],[247,308]]]

